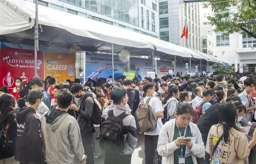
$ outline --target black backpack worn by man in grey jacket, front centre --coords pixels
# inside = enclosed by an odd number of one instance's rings
[[[114,116],[113,110],[108,110],[108,118],[100,126],[100,148],[106,152],[121,153],[124,149],[124,130],[122,120],[131,115],[127,112]]]

